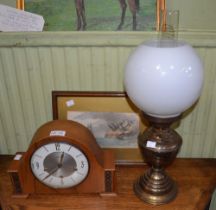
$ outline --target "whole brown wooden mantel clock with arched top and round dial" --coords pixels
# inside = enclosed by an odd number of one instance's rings
[[[115,192],[112,151],[103,150],[83,125],[54,120],[42,125],[8,170],[14,196]]]

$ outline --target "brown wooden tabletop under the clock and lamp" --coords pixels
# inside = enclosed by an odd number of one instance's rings
[[[153,206],[140,201],[133,193],[133,181],[147,166],[117,166],[117,196],[31,195],[12,198],[6,169],[11,156],[0,156],[0,199],[3,209],[24,210],[204,210],[216,186],[216,159],[176,159],[167,172],[178,183],[177,198],[169,204]],[[95,180],[97,181],[97,180]]]

